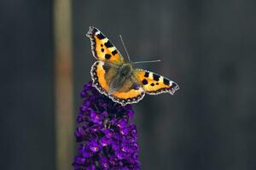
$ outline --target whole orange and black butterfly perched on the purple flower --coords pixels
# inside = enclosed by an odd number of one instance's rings
[[[93,86],[121,105],[137,103],[145,94],[174,94],[179,89],[176,82],[151,71],[133,68],[125,62],[113,42],[97,28],[90,26],[91,51],[97,61],[91,66]]]

